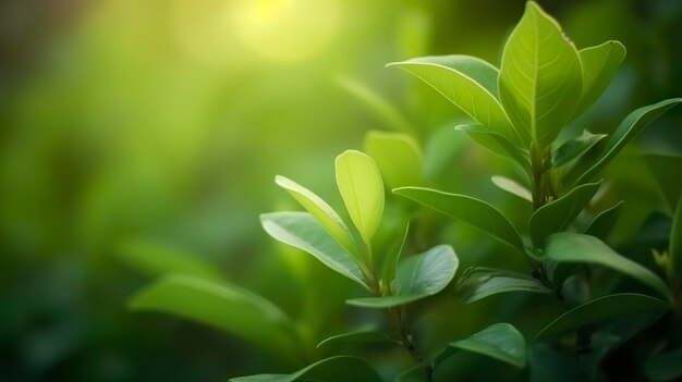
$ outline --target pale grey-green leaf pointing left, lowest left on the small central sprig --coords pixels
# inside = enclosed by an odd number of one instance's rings
[[[307,212],[260,215],[265,231],[276,239],[315,256],[325,266],[370,289],[363,272],[343,247]]]

